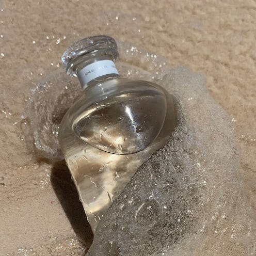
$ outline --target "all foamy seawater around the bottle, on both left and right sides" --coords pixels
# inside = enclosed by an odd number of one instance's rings
[[[235,135],[204,78],[133,45],[119,43],[119,52],[123,76],[174,95],[179,122],[103,216],[88,255],[253,255],[255,223],[242,194]],[[27,116],[40,157],[62,158],[58,126],[79,93],[63,71],[32,92]]]

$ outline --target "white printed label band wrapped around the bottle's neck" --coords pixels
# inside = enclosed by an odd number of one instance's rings
[[[115,62],[112,60],[100,60],[89,64],[77,73],[77,77],[83,88],[93,79],[107,74],[119,74]]]

